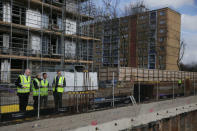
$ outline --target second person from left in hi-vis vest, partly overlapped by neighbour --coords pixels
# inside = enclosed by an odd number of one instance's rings
[[[41,82],[41,76],[40,74],[36,75],[36,78],[32,81],[32,91],[33,91],[33,100],[34,100],[34,110],[37,111],[38,109],[38,97],[41,95],[40,92],[40,82]]]

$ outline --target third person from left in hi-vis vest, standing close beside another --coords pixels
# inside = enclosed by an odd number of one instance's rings
[[[43,79],[41,80],[41,107],[47,107],[48,100],[48,90],[49,90],[49,82],[47,80],[47,73],[42,74]]]

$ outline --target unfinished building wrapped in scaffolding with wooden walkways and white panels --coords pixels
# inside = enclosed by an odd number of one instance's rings
[[[1,0],[1,82],[9,83],[25,68],[90,68],[98,39],[85,30],[93,14],[91,0]]]

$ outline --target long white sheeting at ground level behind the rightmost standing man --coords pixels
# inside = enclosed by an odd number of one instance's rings
[[[56,76],[56,72],[46,72],[48,74],[48,81],[52,86],[53,79]],[[88,75],[89,74],[89,75]],[[85,90],[98,90],[98,80],[96,72],[62,72],[62,75],[66,78],[65,92],[68,91],[85,91]]]

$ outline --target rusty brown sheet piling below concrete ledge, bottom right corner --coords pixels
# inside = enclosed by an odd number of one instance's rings
[[[171,118],[137,126],[131,131],[196,131],[197,111],[183,113]]]

